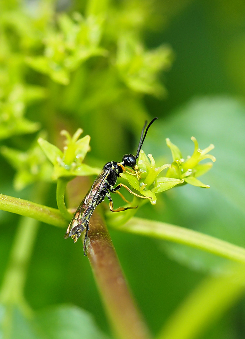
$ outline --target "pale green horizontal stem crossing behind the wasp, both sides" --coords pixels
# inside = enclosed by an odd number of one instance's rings
[[[3,194],[0,194],[0,210],[17,213],[58,227],[67,226],[67,220],[56,208]],[[188,228],[140,218],[132,218],[120,227],[111,222],[110,226],[120,231],[189,245],[220,257],[245,263],[244,248]]]

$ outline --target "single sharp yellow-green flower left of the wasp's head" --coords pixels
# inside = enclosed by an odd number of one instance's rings
[[[60,177],[86,176],[101,172],[99,168],[90,167],[82,163],[87,152],[90,151],[90,136],[86,135],[78,139],[82,132],[81,128],[78,128],[73,136],[65,130],[60,132],[66,138],[63,153],[48,141],[42,138],[38,139],[43,152],[54,165],[52,176],[54,180]]]

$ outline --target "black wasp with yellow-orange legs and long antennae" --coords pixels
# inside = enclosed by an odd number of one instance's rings
[[[67,232],[65,233],[64,238],[67,239],[71,237],[74,240],[74,242],[76,242],[77,239],[80,237],[82,231],[84,231],[86,228],[86,234],[85,234],[84,242],[83,242],[84,256],[86,256],[85,244],[86,244],[86,239],[87,239],[87,235],[89,232],[89,220],[96,206],[98,206],[98,204],[100,204],[105,199],[105,197],[109,199],[109,202],[110,202],[109,206],[112,212],[120,212],[120,211],[128,210],[130,208],[137,208],[137,206],[135,206],[135,207],[125,207],[125,208],[119,207],[116,210],[113,209],[113,202],[112,202],[110,193],[118,193],[122,197],[122,199],[127,201],[124,198],[124,196],[118,192],[121,186],[125,187],[130,193],[136,195],[137,197],[148,199],[147,197],[143,197],[132,192],[130,188],[124,184],[120,183],[115,188],[113,188],[113,186],[115,185],[120,173],[123,173],[126,171],[125,166],[132,167],[138,178],[138,167],[136,165],[136,159],[139,157],[139,151],[145,140],[145,137],[146,137],[146,134],[147,134],[147,131],[150,125],[156,119],[158,118],[152,119],[147,127],[146,127],[147,121],[145,122],[145,125],[141,132],[136,155],[134,156],[133,154],[125,154],[122,157],[122,162],[115,162],[115,161],[107,162],[105,166],[103,167],[101,174],[97,176],[89,192],[86,194],[86,196],[84,197],[84,199],[78,206],[77,211],[74,214],[67,228]],[[145,131],[145,127],[146,127],[146,131]],[[144,134],[144,131],[145,131],[145,134]]]

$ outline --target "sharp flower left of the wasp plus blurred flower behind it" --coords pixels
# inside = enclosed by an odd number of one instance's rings
[[[87,176],[101,172],[99,168],[82,163],[87,152],[90,151],[89,135],[79,139],[81,128],[78,128],[72,137],[67,131],[63,130],[60,133],[66,138],[63,152],[44,139],[46,137],[44,132],[39,134],[26,152],[6,146],[0,148],[1,154],[16,169],[14,188],[17,191],[36,181],[52,182],[58,178],[71,180],[74,176]]]

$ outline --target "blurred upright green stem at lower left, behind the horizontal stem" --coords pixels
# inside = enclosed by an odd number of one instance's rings
[[[35,197],[42,201],[47,191],[46,184],[34,186]],[[32,310],[24,298],[24,284],[27,267],[31,258],[33,245],[38,230],[38,220],[22,217],[19,221],[14,243],[10,254],[0,290],[0,303],[4,305],[2,331],[4,338],[12,338],[13,317],[16,307],[26,317],[32,315]]]

